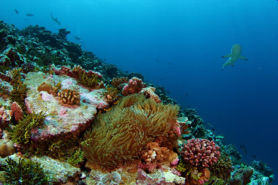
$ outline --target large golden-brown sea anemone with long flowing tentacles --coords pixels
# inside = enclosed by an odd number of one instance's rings
[[[178,111],[176,105],[157,104],[144,95],[124,97],[84,134],[84,156],[104,168],[129,163],[148,142],[167,137]]]

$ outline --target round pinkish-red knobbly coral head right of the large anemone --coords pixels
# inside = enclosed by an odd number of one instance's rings
[[[207,139],[190,139],[184,143],[182,156],[194,166],[209,167],[220,157],[220,147]]]

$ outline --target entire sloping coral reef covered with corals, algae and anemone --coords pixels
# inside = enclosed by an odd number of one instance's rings
[[[162,86],[107,64],[70,31],[0,22],[0,184],[267,185]],[[26,36],[25,33],[29,34]]]

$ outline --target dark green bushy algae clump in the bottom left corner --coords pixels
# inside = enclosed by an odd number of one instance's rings
[[[4,182],[6,184],[40,185],[48,182],[39,162],[19,158],[17,163],[8,157],[6,163],[7,166],[2,167],[5,171]]]

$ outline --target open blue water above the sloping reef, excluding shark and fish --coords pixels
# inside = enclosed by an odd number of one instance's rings
[[[170,97],[225,134],[243,160],[255,155],[278,171],[276,0],[2,0],[0,5],[6,23],[39,24],[53,32],[66,28],[68,39],[83,49],[163,85]],[[248,61],[238,59],[221,72],[227,61],[221,56],[236,43]]]

